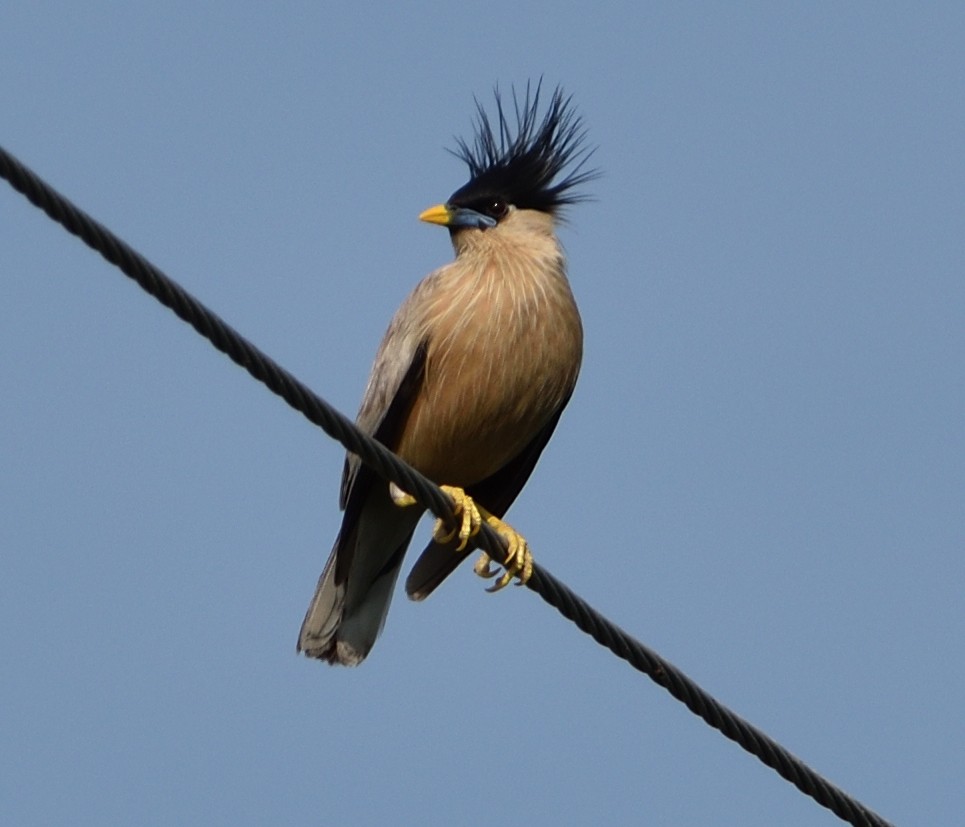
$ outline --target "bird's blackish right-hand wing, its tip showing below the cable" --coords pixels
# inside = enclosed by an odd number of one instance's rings
[[[492,514],[502,517],[533,473],[568,401],[569,397],[563,400],[549,422],[519,454],[495,474],[466,488],[466,493]],[[412,600],[427,598],[472,553],[472,549],[456,551],[456,545],[457,541],[443,544],[432,540],[423,549],[405,581],[405,592]]]

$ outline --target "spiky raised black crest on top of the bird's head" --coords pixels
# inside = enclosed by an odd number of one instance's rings
[[[555,213],[560,207],[586,198],[574,190],[599,173],[584,169],[593,149],[586,146],[583,120],[559,87],[540,119],[541,86],[542,81],[531,92],[527,83],[522,100],[513,90],[515,128],[498,89],[495,124],[476,100],[473,144],[458,138],[456,149],[450,150],[466,162],[472,178],[452,194],[450,203],[469,206],[487,198],[499,198],[520,209]]]

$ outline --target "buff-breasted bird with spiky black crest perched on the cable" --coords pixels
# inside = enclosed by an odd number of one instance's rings
[[[450,495],[459,526],[436,523],[405,583],[426,598],[470,553],[482,522],[510,558],[490,590],[532,572],[528,544],[502,516],[566,407],[580,371],[583,326],[556,227],[586,200],[583,119],[557,86],[541,114],[542,80],[495,115],[475,99],[473,139],[449,150],[469,181],[419,218],[449,230],[455,259],[405,299],[382,339],[358,427]],[[305,614],[297,650],[355,666],[382,631],[403,557],[424,509],[348,454],[342,525]],[[484,554],[475,571],[493,577]]]

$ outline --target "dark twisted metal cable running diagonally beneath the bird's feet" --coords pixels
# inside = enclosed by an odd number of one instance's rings
[[[384,445],[359,431],[346,416],[262,353],[140,253],[54,190],[3,147],[0,147],[0,176],[68,232],[76,235],[173,310],[292,408],[338,440],[347,450],[357,454],[381,477],[412,494],[421,505],[448,525],[455,524],[452,502],[435,483],[402,462]],[[472,542],[494,560],[506,559],[502,540],[489,526],[484,524]],[[595,641],[627,661],[634,669],[648,675],[694,714],[842,820],[856,827],[890,827],[890,823],[881,816],[823,778],[765,733],[719,703],[673,664],[607,620],[541,566],[534,566],[527,586]]]

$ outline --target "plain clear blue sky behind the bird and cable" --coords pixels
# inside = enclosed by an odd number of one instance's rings
[[[965,6],[24,3],[0,142],[350,415],[473,95],[598,145],[538,560],[900,824],[965,811]],[[341,449],[0,186],[10,824],[837,823],[527,590],[296,656]],[[429,529],[424,524],[417,542]]]

